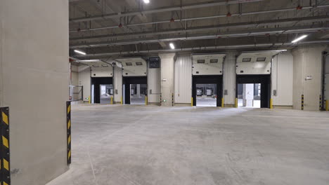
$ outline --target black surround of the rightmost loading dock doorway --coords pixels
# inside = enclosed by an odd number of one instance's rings
[[[240,84],[257,84],[259,88],[259,95],[257,97],[260,99],[260,108],[270,108],[271,100],[271,75],[270,74],[259,74],[259,75],[237,75],[236,76],[236,98],[241,94]],[[240,90],[240,91],[239,91]],[[259,92],[257,91],[257,92]],[[256,90],[254,91],[256,92]]]

